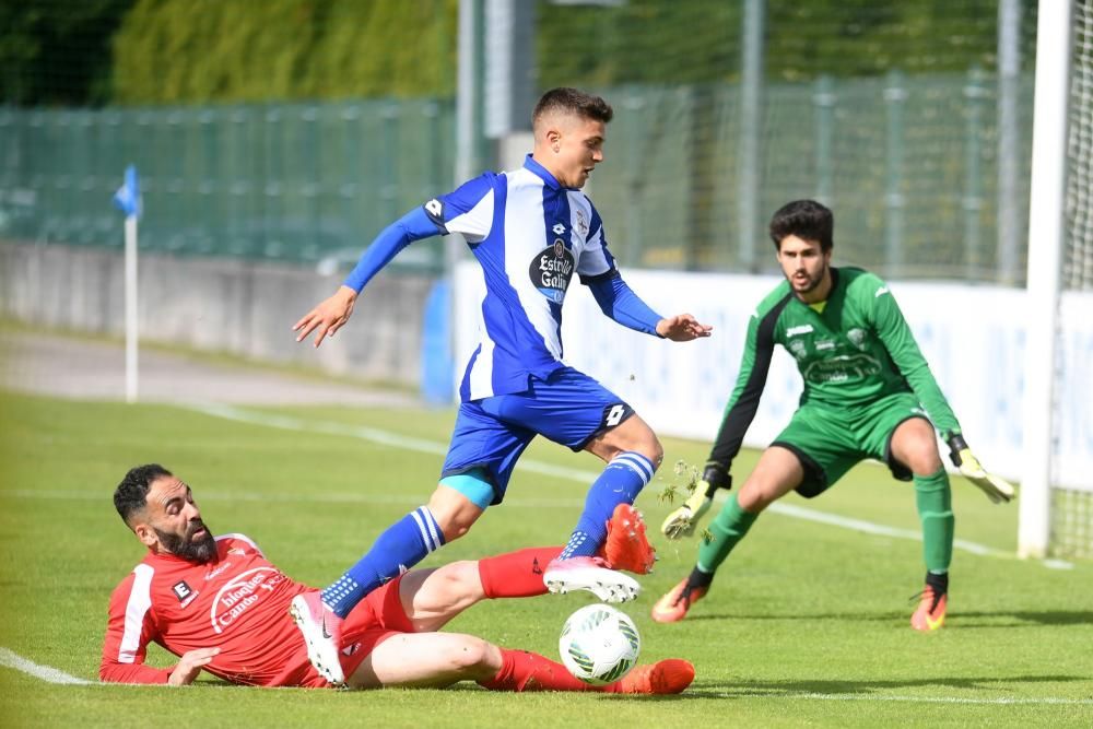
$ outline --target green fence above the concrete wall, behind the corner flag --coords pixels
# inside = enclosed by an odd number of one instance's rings
[[[0,110],[0,237],[121,245],[109,201],[141,174],[141,247],[317,263],[451,184],[453,105],[433,99]],[[438,270],[436,245],[403,263]]]

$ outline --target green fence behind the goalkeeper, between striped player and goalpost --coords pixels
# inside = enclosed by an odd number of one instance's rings
[[[752,226],[761,239],[740,237],[739,86],[602,93],[616,115],[590,192],[631,264],[773,269],[766,219],[789,200],[815,198],[835,211],[843,263],[900,278],[1023,279],[1031,118],[1020,120],[1020,145],[1001,152],[1016,186],[1000,202],[996,81],[980,71],[768,84],[762,220]],[[1019,94],[1029,108],[1031,79]],[[1000,235],[1008,207],[1015,236]]]

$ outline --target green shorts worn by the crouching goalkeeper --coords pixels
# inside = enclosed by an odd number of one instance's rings
[[[791,450],[800,459],[804,480],[797,493],[806,498],[819,496],[867,458],[886,463],[900,481],[910,481],[910,469],[892,457],[892,434],[912,418],[929,421],[910,392],[886,395],[853,408],[809,402],[794,413],[771,445]]]

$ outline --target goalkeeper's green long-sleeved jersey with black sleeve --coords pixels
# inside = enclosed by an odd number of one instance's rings
[[[728,470],[755,418],[774,345],[797,361],[800,403],[853,409],[894,392],[914,392],[942,435],[960,433],[930,367],[888,285],[858,268],[832,268],[827,301],[809,305],[783,281],[748,325],[740,375],[709,461]]]

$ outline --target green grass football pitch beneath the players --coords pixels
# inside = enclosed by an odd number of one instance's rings
[[[110,502],[128,467],[162,462],[193,487],[214,531],[246,533],[293,577],[326,584],[427,497],[451,420],[450,411],[318,408],[216,415],[0,395],[0,647],[96,679],[109,592],[143,550]],[[638,499],[650,525],[668,512],[657,493],[674,478],[671,463],[701,462],[708,447],[665,445],[666,468]],[[753,459],[742,455],[736,472]],[[426,564],[568,534],[587,487],[581,472],[598,462],[546,443],[525,460],[506,503]],[[644,660],[695,663],[697,679],[679,697],[494,694],[473,684],[271,691],[208,677],[181,690],[58,685],[0,666],[0,725],[1093,726],[1093,565],[1009,558],[1015,507],[992,506],[960,480],[954,492],[957,538],[974,544],[954,555],[949,624],[931,635],[908,626],[921,545],[900,530],[918,529],[914,496],[879,467],[859,467],[814,502],[784,503],[890,531],[768,513],[680,624],[655,624],[648,610],[690,569],[695,546],[655,538],[661,561],[626,611]],[[565,615],[588,601],[494,601],[450,630],[553,657]],[[153,646],[150,662],[173,660]]]

